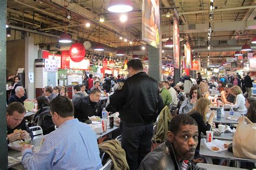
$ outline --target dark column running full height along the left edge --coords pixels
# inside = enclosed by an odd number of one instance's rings
[[[0,1],[0,169],[8,167],[6,125],[6,0]]]

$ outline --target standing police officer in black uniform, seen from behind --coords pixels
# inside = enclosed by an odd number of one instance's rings
[[[119,111],[122,147],[130,169],[138,169],[151,151],[153,121],[163,108],[157,81],[143,72],[139,59],[127,62],[129,78],[120,82],[110,96],[110,105]]]

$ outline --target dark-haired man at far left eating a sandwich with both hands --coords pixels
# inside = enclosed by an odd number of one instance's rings
[[[28,136],[33,139],[33,133],[23,120],[26,113],[22,103],[12,102],[7,108],[6,122],[8,130],[8,143],[16,140],[24,140]]]

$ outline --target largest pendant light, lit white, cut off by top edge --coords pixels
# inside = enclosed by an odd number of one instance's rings
[[[110,12],[124,13],[132,10],[131,0],[110,0],[109,8],[107,8]]]

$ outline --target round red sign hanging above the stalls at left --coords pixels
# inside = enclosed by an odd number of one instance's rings
[[[84,59],[85,56],[85,48],[81,43],[72,44],[69,49],[70,59],[74,62],[80,62]]]

